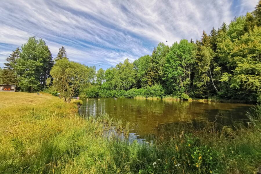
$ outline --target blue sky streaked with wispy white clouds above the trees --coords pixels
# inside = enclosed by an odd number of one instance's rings
[[[0,0],[0,67],[29,37],[43,38],[55,58],[96,68],[151,55],[159,42],[200,39],[252,12],[258,0]],[[168,41],[168,42],[166,42]]]

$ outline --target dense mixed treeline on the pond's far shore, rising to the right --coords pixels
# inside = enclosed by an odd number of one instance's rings
[[[182,98],[247,99],[256,101],[261,92],[261,4],[229,25],[205,31],[195,42],[182,39],[171,47],[159,43],[151,55],[133,63],[128,59],[106,71],[82,91],[86,97],[128,97],[160,93]],[[144,90],[137,90],[144,89]],[[127,92],[126,92],[127,91]],[[147,91],[147,92],[146,92]],[[132,93],[135,95],[135,93]]]

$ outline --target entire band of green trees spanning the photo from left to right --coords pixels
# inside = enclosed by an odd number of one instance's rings
[[[189,37],[189,36],[188,36]],[[255,10],[229,24],[182,39],[159,43],[151,55],[126,59],[106,70],[68,60],[65,48],[57,57],[43,39],[30,37],[13,50],[0,69],[0,84],[21,91],[61,93],[64,101],[81,97],[218,97],[261,100],[261,1]]]

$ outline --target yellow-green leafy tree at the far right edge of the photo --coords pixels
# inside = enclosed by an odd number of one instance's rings
[[[234,75],[231,78],[231,87],[243,89],[250,93],[261,92],[261,27],[246,33],[236,40],[231,52],[235,62]]]

